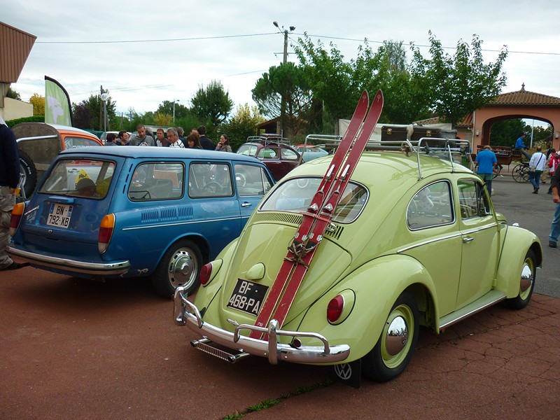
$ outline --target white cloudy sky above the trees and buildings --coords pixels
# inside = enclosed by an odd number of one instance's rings
[[[363,38],[374,50],[384,40],[428,45],[431,30],[453,48],[477,34],[486,62],[503,45],[510,51],[503,92],[525,83],[560,97],[557,0],[0,0],[0,10],[2,22],[37,36],[13,85],[24,100],[44,95],[46,75],[76,103],[103,85],[125,113],[155,111],[165,100],[189,105],[211,80],[220,80],[236,105],[253,104],[256,80],[282,59],[274,20],[295,27],[290,42],[307,32],[314,42],[335,43],[346,59],[356,57]]]

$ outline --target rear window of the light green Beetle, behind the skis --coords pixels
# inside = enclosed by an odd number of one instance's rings
[[[295,213],[308,211],[320,183],[320,178],[290,179],[267,197],[260,210],[293,211]],[[350,223],[356,220],[366,202],[367,190],[356,183],[348,183],[332,214],[332,221]]]

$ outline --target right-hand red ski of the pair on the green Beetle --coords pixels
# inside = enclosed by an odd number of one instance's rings
[[[379,116],[381,116],[382,110],[383,92],[378,90],[373,100],[370,112],[367,114],[367,118],[365,118],[363,123],[362,131],[354,142],[348,158],[344,161],[342,172],[340,172],[339,176],[337,176],[337,179],[332,185],[332,190],[325,198],[323,207],[321,207],[321,213],[318,217],[313,218],[314,225],[311,228],[311,232],[309,232],[309,238],[307,239],[307,242],[302,244],[300,253],[295,258],[295,263],[297,263],[297,265],[293,269],[293,274],[288,279],[288,286],[286,286],[286,291],[281,297],[278,308],[274,312],[274,316],[271,317],[278,321],[279,327],[281,327],[284,321],[286,321],[286,316],[288,315],[288,311],[295,299],[295,294],[300,288],[305,273],[307,273],[307,269],[309,269],[311,259],[315,255],[318,244],[321,243],[325,230],[330,223],[332,212],[336,209],[341,195],[344,193],[344,189],[348,185],[356,165],[358,165],[360,156],[367,145],[367,141],[370,139],[375,125],[377,125],[377,121],[379,121]]]

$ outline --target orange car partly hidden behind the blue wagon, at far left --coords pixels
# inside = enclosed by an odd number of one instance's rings
[[[76,127],[45,123],[20,123],[13,127],[20,153],[22,190],[29,197],[60,151],[103,146],[94,134]]]

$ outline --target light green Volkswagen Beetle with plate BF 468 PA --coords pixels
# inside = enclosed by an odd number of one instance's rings
[[[460,155],[451,159],[447,147],[422,140],[367,149],[286,321],[273,312],[264,327],[255,325],[288,246],[295,265],[309,251],[293,248],[293,238],[332,156],[272,188],[241,236],[202,269],[193,303],[176,290],[174,321],[204,337],[193,346],[230,362],[251,354],[388,381],[409,363],[420,325],[439,333],[498,302],[528,304],[540,241],[507,225]]]

